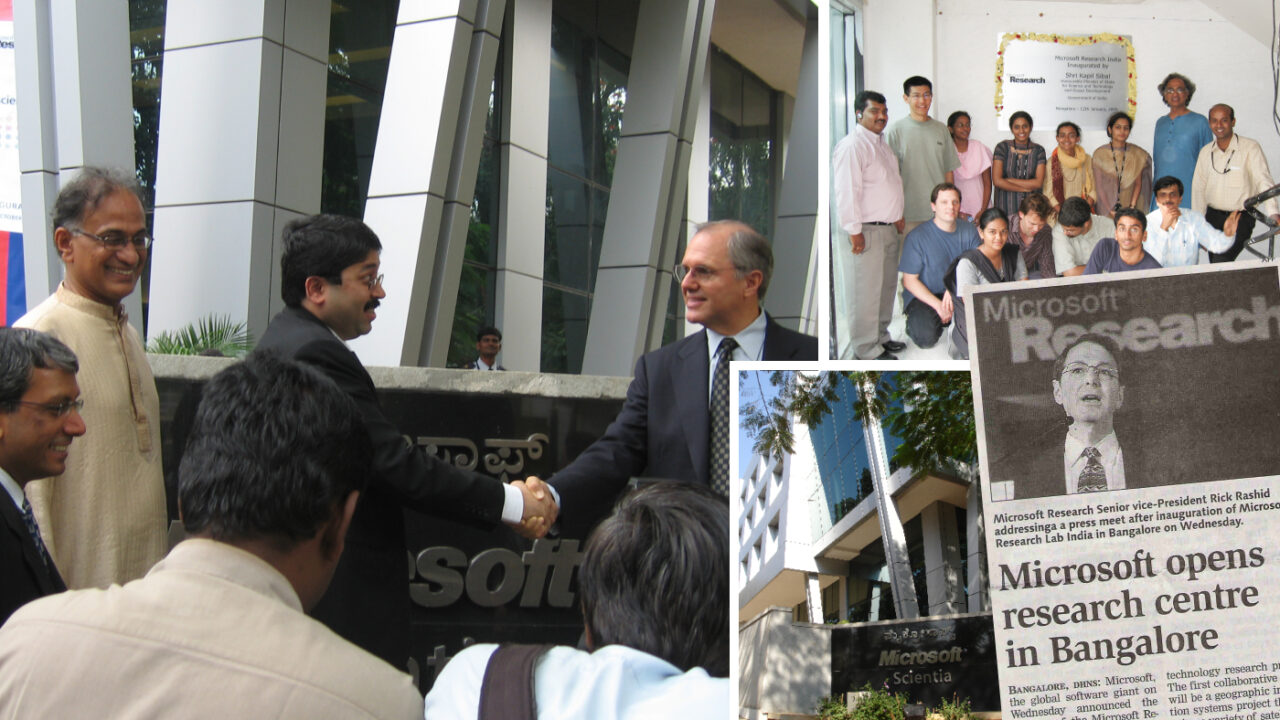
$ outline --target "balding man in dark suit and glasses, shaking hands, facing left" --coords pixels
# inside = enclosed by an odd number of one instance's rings
[[[772,274],[773,251],[750,227],[718,220],[698,228],[676,277],[685,318],[704,329],[643,355],[617,419],[548,480],[566,520],[603,516],[637,475],[728,493],[728,396],[724,388],[721,425],[713,428],[716,370],[723,363],[727,379],[728,360],[818,359],[818,338],[783,328],[760,310]],[[713,455],[719,456],[716,469]]]

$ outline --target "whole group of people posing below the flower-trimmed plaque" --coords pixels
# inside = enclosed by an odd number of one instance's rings
[[[1274,182],[1261,146],[1235,133],[1226,104],[1189,109],[1196,83],[1170,73],[1158,86],[1169,114],[1153,155],[1129,142],[1133,118],[1107,119],[1092,155],[1080,127],[1062,122],[1052,151],[1030,140],[1034,119],[1009,118],[995,151],[970,137],[964,110],[929,117],[933,86],[902,83],[910,115],[888,124],[886,99],[863,91],[858,124],[835,149],[832,183],[844,231],[832,238],[837,356],[896,360],[891,337],[901,274],[906,336],[969,356],[963,299],[974,284],[1235,260],[1256,220],[1244,201]],[[928,199],[928,202],[925,202]],[[1280,224],[1275,199],[1262,210]]]

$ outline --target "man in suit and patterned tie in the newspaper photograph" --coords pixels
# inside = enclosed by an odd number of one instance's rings
[[[1094,333],[1062,348],[1053,361],[1053,401],[1070,420],[1066,437],[1061,430],[1044,433],[1041,442],[1023,447],[1025,462],[993,462],[992,484],[1012,482],[1016,500],[1149,484],[1151,478],[1135,477],[1144,474],[1137,470],[1139,448],[1126,455],[1116,438],[1115,413],[1124,405],[1119,356],[1114,340]],[[1007,500],[1000,488],[992,489],[996,500]]]

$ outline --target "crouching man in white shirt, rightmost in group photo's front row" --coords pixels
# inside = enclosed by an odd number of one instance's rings
[[[1213,252],[1226,252],[1235,236],[1235,225],[1240,220],[1239,210],[1229,214],[1222,228],[1208,224],[1204,215],[1189,208],[1181,208],[1183,181],[1165,176],[1152,187],[1156,195],[1156,209],[1147,215],[1146,250],[1162,268],[1181,268],[1199,263],[1199,249]]]

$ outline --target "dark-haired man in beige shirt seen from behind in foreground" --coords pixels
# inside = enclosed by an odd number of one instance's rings
[[[371,456],[355,402],[319,372],[260,354],[219,373],[179,473],[189,539],[124,587],[15,612],[0,716],[420,717],[412,678],[306,615]]]

